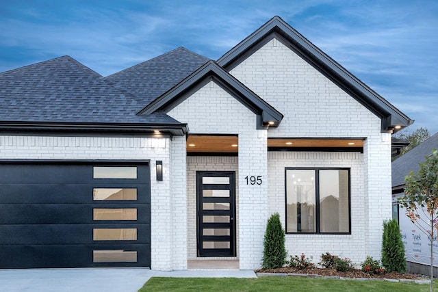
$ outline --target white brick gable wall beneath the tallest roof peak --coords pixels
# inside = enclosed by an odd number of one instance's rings
[[[285,117],[269,137],[368,137],[381,120],[278,40],[231,74]]]

